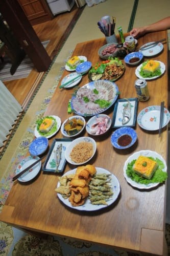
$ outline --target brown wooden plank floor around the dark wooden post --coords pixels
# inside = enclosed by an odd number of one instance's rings
[[[72,29],[72,24],[75,23],[81,11],[75,5],[70,12],[58,14],[48,22],[33,26],[41,41],[50,40],[46,51],[51,59],[54,58],[57,51],[61,48],[63,41]],[[4,81],[4,84],[24,109],[43,75],[44,72],[37,72],[34,68],[27,78]]]

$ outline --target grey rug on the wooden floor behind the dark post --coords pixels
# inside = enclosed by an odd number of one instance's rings
[[[47,47],[49,42],[50,42],[49,40],[42,42],[42,45],[44,46],[44,48]],[[11,81],[11,80],[28,77],[30,72],[34,68],[34,65],[31,59],[26,55],[26,57],[22,60],[22,62],[20,63],[16,72],[13,75],[10,74],[10,68],[11,68],[11,60],[8,56],[5,56],[4,62],[1,62],[1,66],[0,66],[0,78],[2,81]]]

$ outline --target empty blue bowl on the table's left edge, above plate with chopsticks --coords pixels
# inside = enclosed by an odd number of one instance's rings
[[[43,154],[48,147],[48,139],[45,137],[38,137],[33,140],[29,146],[31,156],[39,156]]]

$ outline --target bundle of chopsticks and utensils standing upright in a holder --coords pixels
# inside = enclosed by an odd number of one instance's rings
[[[98,27],[105,36],[111,36],[114,34],[115,24],[115,17],[112,16],[111,20],[110,16],[104,16],[98,22]]]

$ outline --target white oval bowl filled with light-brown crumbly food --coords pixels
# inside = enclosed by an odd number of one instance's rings
[[[80,137],[69,143],[65,151],[65,159],[74,165],[85,164],[96,152],[96,142],[90,137]]]

